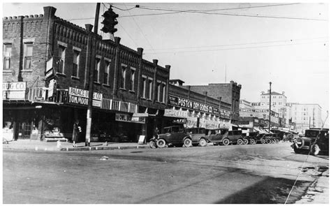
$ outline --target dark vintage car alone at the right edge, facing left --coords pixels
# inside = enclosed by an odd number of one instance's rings
[[[304,131],[304,137],[297,138],[291,147],[297,154],[302,152],[310,152],[315,156],[320,152],[329,154],[329,129],[307,129]]]

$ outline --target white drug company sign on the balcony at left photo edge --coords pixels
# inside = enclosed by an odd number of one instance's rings
[[[27,82],[3,82],[3,99],[6,100],[24,100]]]

